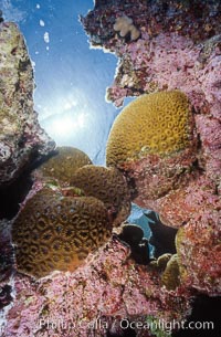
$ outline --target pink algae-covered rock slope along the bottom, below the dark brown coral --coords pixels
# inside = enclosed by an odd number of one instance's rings
[[[18,274],[14,288],[2,337],[106,336],[123,319],[144,325],[150,317],[179,320],[188,314],[191,298],[182,286],[173,292],[160,286],[159,271],[136,265],[116,238],[75,273],[56,273],[35,283]]]

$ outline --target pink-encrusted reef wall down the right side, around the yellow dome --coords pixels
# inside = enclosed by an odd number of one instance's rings
[[[122,15],[141,32],[137,41],[114,32],[113,22]],[[179,89],[187,95],[197,135],[191,167],[180,170],[180,177],[169,175],[170,168],[183,166],[181,152],[161,159],[143,156],[140,148],[140,159],[128,158],[120,168],[133,186],[133,201],[158,212],[164,223],[180,228],[177,250],[182,282],[220,294],[221,3],[97,1],[82,22],[92,46],[118,56],[107,89],[107,99],[116,106],[127,96],[155,92]],[[191,160],[188,154],[186,160]],[[168,175],[159,173],[159,167]],[[177,183],[164,189],[173,178]],[[152,187],[165,192],[154,196]]]

